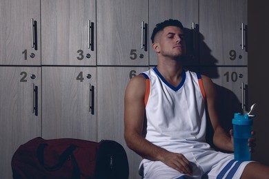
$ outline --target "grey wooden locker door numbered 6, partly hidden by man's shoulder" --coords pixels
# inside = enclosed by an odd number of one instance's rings
[[[141,157],[127,147],[123,138],[124,94],[130,78],[146,70],[148,67],[97,67],[98,141],[110,139],[123,145],[128,156],[129,178],[141,178],[138,175]]]

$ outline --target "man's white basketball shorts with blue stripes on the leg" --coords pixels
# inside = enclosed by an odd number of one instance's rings
[[[159,161],[143,160],[144,178],[240,178],[249,162],[234,160],[233,154],[219,151],[190,152],[183,154],[192,163],[192,176],[180,173]]]

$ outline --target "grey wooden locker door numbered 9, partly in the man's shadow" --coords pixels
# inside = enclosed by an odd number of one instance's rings
[[[246,0],[199,1],[201,65],[248,65],[247,8]]]

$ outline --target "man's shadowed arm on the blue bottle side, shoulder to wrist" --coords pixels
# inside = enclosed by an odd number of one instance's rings
[[[215,85],[210,78],[203,76],[203,87],[206,92],[206,102],[208,105],[208,114],[214,129],[213,143],[226,151],[233,151],[233,140],[229,134],[224,131],[219,123],[219,116],[216,109],[216,89]]]

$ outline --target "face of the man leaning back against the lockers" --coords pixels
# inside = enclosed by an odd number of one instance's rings
[[[186,41],[181,28],[168,26],[157,34],[155,52],[162,56],[179,57],[186,54]]]

